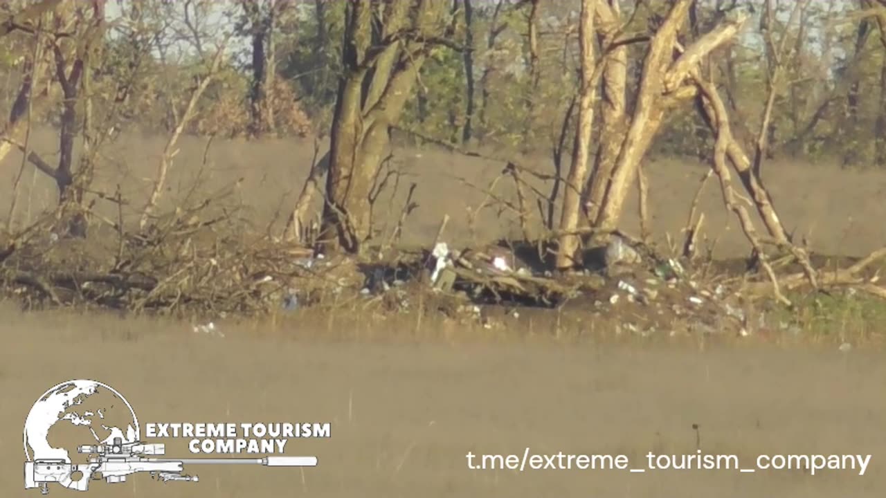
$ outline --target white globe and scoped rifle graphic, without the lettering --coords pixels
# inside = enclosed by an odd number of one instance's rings
[[[141,440],[135,410],[113,387],[95,380],[68,380],[43,393],[27,414],[25,489],[49,494],[52,484],[88,491],[90,480],[119,484],[140,473],[162,482],[198,482],[197,476],[183,473],[185,464],[317,464],[316,456],[158,458],[166,454],[165,446]],[[72,462],[74,455],[82,461]]]

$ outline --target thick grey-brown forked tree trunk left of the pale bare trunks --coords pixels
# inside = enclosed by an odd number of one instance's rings
[[[373,30],[376,7],[384,9],[385,23]],[[447,44],[441,36],[441,25],[451,21],[447,13],[447,5],[434,0],[347,5],[345,73],[332,121],[320,234],[323,251],[360,253],[372,236],[369,193],[390,143],[390,128],[400,119],[431,46]]]

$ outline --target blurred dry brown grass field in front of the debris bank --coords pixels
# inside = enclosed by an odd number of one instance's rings
[[[123,393],[147,422],[330,422],[290,440],[314,469],[188,467],[198,483],[139,476],[95,496],[880,496],[886,486],[882,349],[681,343],[384,340],[299,323],[276,332],[4,307],[0,482],[24,496],[20,424],[69,377]],[[384,335],[384,331],[379,331]],[[307,338],[305,338],[307,336]],[[693,430],[698,425],[698,432]],[[858,471],[469,471],[470,451],[521,455],[871,454]],[[167,454],[190,456],[181,440]],[[32,490],[36,493],[36,490]],[[52,495],[72,491],[53,488]]]

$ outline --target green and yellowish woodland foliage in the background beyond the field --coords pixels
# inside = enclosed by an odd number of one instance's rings
[[[211,2],[198,4],[201,15],[206,14],[206,9],[214,8]],[[723,3],[704,0],[698,4],[703,31],[718,19],[713,10],[716,4]],[[188,38],[186,29],[170,29],[166,22],[169,16],[182,16],[178,4],[148,2],[145,5],[149,7],[143,29],[166,36],[167,43],[174,38]],[[249,91],[248,58],[240,52],[249,51],[246,42],[250,22],[242,6],[226,5],[220,7],[225,11],[221,15],[223,20],[213,22],[234,27],[240,41],[235,57],[199,104],[198,114],[204,122],[207,116],[214,115],[214,109],[222,101],[225,105],[245,106]],[[323,5],[321,17],[317,15],[317,5]],[[532,81],[529,68],[528,4],[516,0],[505,2],[495,13],[496,5],[473,2],[473,66],[470,68],[475,83],[470,116],[473,137],[483,144],[547,153],[556,144],[564,114],[577,91],[576,33],[574,30],[570,35],[564,32],[564,27],[574,27],[577,22],[577,3],[540,4],[541,57],[537,82]],[[637,5],[639,8],[634,12]],[[622,15],[631,19],[625,33],[648,33],[665,13],[667,5],[623,2]],[[882,138],[886,135],[882,129],[886,127],[886,122],[882,122],[886,115],[886,98],[882,98],[886,88],[883,70],[886,51],[876,23],[869,21],[870,33],[856,53],[860,21],[851,17],[851,9],[855,7],[850,3],[808,3],[802,30],[796,24],[784,26],[793,3],[776,5],[779,12],[768,31],[761,30],[758,10],[745,32],[711,58],[711,78],[729,107],[734,131],[744,139],[752,140],[758,135],[770,77],[766,35],[773,37],[776,47],[781,45],[782,36],[788,36],[785,45],[788,52],[781,57],[782,84],[776,89],[773,101],[770,148],[812,160],[837,159],[846,167],[880,166],[878,158],[886,158],[886,140]],[[320,134],[329,131],[342,72],[340,54],[345,8],[346,2],[294,4],[278,18],[274,35],[276,74],[285,85],[283,94],[294,94],[289,107],[307,113],[315,132]],[[844,20],[836,22],[839,19]],[[182,19],[173,23],[184,26]],[[464,19],[459,19],[449,41],[463,43],[466,29]],[[97,103],[111,105],[113,90],[121,82],[133,79],[136,85],[127,103],[128,114],[137,116],[149,127],[168,128],[171,124],[168,104],[184,104],[194,77],[205,71],[208,61],[198,59],[193,53],[175,61],[167,58],[165,63],[159,58],[146,58],[134,75],[129,64],[136,56],[135,49],[125,37],[117,34],[109,35],[103,60],[95,66]],[[690,35],[687,32],[681,36]],[[797,36],[802,36],[799,43]],[[33,49],[29,35],[12,34],[5,37],[4,42],[8,43],[0,47],[0,81],[8,82],[10,90],[0,108],[8,110],[15,93],[13,89],[18,88],[19,72],[24,67],[22,61]],[[211,43],[207,39],[204,45],[209,47]],[[642,42],[628,47],[629,112],[633,92],[639,84],[636,68],[641,65],[647,47],[648,44]],[[727,64],[730,59],[734,62],[731,66]],[[408,100],[400,126],[438,140],[460,141],[469,117],[464,64],[461,51],[436,46],[422,67],[420,81],[413,87],[413,96]],[[851,104],[853,92],[858,95],[855,105]],[[52,113],[50,109],[47,113]],[[198,128],[193,131],[199,131]],[[667,116],[652,151],[706,156],[711,146],[710,132],[699,120],[696,109],[687,104]]]

